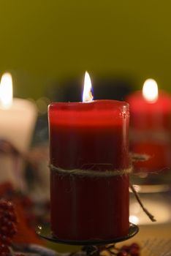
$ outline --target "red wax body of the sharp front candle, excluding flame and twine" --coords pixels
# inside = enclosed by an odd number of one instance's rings
[[[100,100],[49,106],[50,163],[67,170],[129,167],[126,102]],[[61,176],[50,172],[51,229],[60,239],[126,236],[129,176]]]

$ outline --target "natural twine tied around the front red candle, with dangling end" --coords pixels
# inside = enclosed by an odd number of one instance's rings
[[[72,169],[72,170],[65,170],[61,167],[56,167],[54,165],[49,165],[50,170],[57,172],[61,176],[64,175],[70,175],[70,176],[82,176],[82,177],[90,177],[90,178],[110,178],[113,176],[123,176],[126,174],[132,173],[132,165],[125,169],[118,169],[118,170],[104,170],[104,171],[98,171],[98,170],[82,170],[82,169]],[[138,195],[136,189],[134,189],[134,186],[132,184],[129,184],[129,188],[134,193],[134,196],[137,199],[137,202],[140,204],[142,211],[145,212],[145,214],[148,216],[149,219],[151,219],[152,222],[156,222],[156,219],[153,217],[153,215],[145,208],[142,201],[140,200],[140,196]]]

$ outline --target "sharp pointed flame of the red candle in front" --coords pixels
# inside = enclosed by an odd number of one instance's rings
[[[88,72],[86,71],[85,77],[84,77],[84,89],[83,89],[83,102],[91,102],[94,98],[91,93],[91,78]]]

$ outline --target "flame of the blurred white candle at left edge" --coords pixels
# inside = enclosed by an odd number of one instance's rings
[[[10,108],[12,105],[12,75],[4,73],[0,83],[0,104],[1,108]]]

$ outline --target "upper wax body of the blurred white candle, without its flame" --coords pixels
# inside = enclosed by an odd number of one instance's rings
[[[0,116],[0,138],[20,152],[27,151],[37,118],[35,105],[27,99],[14,98],[9,108],[0,107]]]

